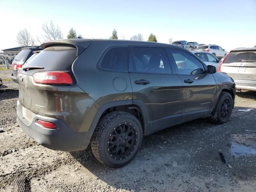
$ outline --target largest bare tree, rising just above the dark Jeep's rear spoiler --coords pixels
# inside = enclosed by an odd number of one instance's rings
[[[42,30],[44,31],[44,41],[63,39],[60,27],[55,25],[52,20],[50,23],[43,24]]]

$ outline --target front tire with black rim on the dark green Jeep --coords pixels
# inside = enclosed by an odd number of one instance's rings
[[[233,98],[228,92],[221,92],[220,98],[211,117],[211,121],[218,124],[228,122],[233,109]]]

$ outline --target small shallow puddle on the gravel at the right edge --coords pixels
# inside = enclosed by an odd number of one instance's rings
[[[252,147],[247,147],[242,144],[231,144],[230,147],[231,154],[238,157],[238,156],[249,156],[249,155],[256,155],[256,149]]]

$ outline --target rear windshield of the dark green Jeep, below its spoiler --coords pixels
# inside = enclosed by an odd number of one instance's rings
[[[26,67],[44,67],[44,70],[71,70],[76,59],[76,48],[70,46],[50,46],[30,60]]]

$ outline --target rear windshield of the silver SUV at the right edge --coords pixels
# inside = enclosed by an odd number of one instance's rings
[[[224,63],[256,62],[256,51],[230,52]]]

